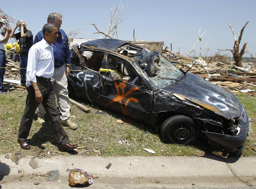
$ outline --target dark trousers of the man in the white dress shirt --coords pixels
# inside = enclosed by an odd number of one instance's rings
[[[37,84],[43,96],[42,105],[44,106],[46,113],[51,119],[51,123],[58,139],[58,145],[70,143],[69,137],[67,136],[66,131],[60,123],[60,116],[58,115],[58,110],[56,107],[55,93],[53,90],[52,82],[46,81],[44,78],[37,77]],[[32,85],[27,87],[27,91],[28,95],[26,98],[26,107],[20,121],[20,128],[18,133],[18,140],[21,142],[25,142],[26,138],[29,136],[35,110],[40,104],[35,100],[35,90]]]

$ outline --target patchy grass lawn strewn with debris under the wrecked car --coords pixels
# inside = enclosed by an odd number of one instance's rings
[[[23,150],[17,142],[17,133],[21,116],[25,108],[26,94],[24,91],[10,91],[7,95],[0,95],[0,154],[21,152],[23,155],[51,157],[68,153],[58,151],[57,140],[49,119],[41,126],[37,121],[32,123],[28,142],[30,150]],[[159,133],[143,122],[139,122],[122,114],[92,105],[82,99],[73,99],[88,108],[85,113],[75,106],[71,106],[71,120],[79,125],[76,131],[65,127],[71,143],[78,143],[80,148],[73,154],[81,156],[202,156],[216,154],[227,157],[229,154],[219,148],[208,145],[199,140],[193,146],[167,144],[161,141]],[[244,105],[252,119],[256,119],[256,98],[243,94],[239,100]],[[99,113],[99,110],[102,112]],[[34,119],[36,120],[35,114]],[[123,123],[119,123],[122,120]],[[256,142],[256,125],[251,123],[250,136],[247,146],[241,156],[256,156],[256,151],[250,148]],[[152,149],[155,154],[143,148]]]

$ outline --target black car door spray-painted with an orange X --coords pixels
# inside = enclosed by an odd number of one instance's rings
[[[113,59],[114,57],[112,56],[111,58]],[[108,60],[111,58],[108,56]],[[122,61],[126,65],[129,64],[128,61]],[[105,69],[109,69],[109,61],[106,64],[103,63],[102,66]],[[112,74],[105,72],[102,76],[100,99],[105,107],[117,110],[131,117],[147,120],[151,113],[153,92],[142,84],[143,78],[141,78],[139,73],[133,67],[130,68],[136,74],[134,78],[137,78],[137,81],[140,82],[124,81],[120,77],[115,78]],[[118,75],[120,75],[119,72]]]

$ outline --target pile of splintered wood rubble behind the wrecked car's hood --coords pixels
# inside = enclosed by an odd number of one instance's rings
[[[256,64],[244,63],[243,67],[236,67],[227,55],[215,55],[205,61],[203,58],[189,58],[171,51],[163,55],[171,61],[177,62],[176,67],[200,76],[213,84],[220,85],[232,93],[249,93],[255,95]]]

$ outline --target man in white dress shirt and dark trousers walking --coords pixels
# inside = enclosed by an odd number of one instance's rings
[[[21,148],[30,149],[26,142],[32,125],[35,110],[40,103],[43,104],[51,119],[59,150],[73,150],[77,145],[71,145],[66,131],[60,123],[60,117],[55,101],[54,88],[51,77],[54,73],[54,55],[52,43],[58,38],[58,28],[47,23],[43,27],[44,38],[29,49],[26,83],[28,95],[26,107],[20,121],[18,142]]]

